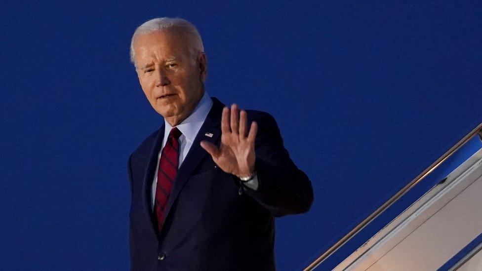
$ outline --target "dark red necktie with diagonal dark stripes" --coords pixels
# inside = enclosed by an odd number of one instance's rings
[[[164,223],[164,211],[167,205],[167,199],[171,194],[174,180],[176,179],[177,167],[179,165],[179,142],[181,131],[174,127],[169,132],[166,144],[161,152],[159,160],[158,182],[156,185],[156,200],[154,202],[154,210],[158,221],[159,232],[162,230]]]

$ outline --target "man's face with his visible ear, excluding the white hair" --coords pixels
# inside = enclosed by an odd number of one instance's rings
[[[137,76],[154,110],[171,125],[181,123],[204,94],[206,58],[195,58],[185,35],[162,31],[139,35],[134,43]]]

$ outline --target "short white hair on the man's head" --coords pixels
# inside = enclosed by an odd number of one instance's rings
[[[202,45],[201,36],[199,35],[198,30],[193,24],[181,18],[155,18],[140,25],[135,30],[134,35],[132,35],[132,39],[130,40],[130,61],[132,62],[132,64],[134,64],[134,66],[136,66],[134,42],[137,36],[142,34],[151,34],[156,31],[167,30],[180,31],[180,33],[186,35],[186,38],[188,39],[189,50],[190,53],[193,55],[193,58],[197,57],[200,52],[204,52],[204,46]]]

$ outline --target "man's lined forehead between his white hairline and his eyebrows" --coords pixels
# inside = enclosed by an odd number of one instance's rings
[[[156,31],[140,34],[134,42],[136,61],[165,60],[165,58],[182,58],[189,54],[185,35],[170,31]]]

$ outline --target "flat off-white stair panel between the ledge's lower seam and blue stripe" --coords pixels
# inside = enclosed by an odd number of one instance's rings
[[[367,270],[437,270],[482,232],[481,194],[479,178]]]

